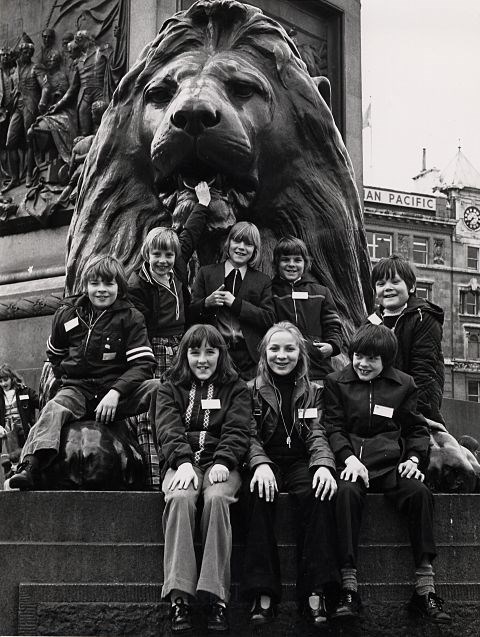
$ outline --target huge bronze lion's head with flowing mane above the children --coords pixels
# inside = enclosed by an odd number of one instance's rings
[[[225,229],[253,221],[302,238],[345,325],[369,306],[369,258],[349,157],[285,30],[235,0],[200,0],[168,20],[123,78],[87,162],[68,240],[67,287],[92,252],[131,269],[154,226],[181,224],[199,180],[214,192],[213,258]]]

